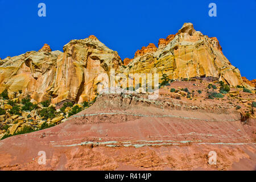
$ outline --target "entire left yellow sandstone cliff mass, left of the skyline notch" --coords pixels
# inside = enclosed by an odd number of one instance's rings
[[[51,99],[76,102],[92,100],[97,93],[98,75],[118,69],[121,59],[116,51],[95,36],[71,40],[64,52],[52,51],[48,44],[38,52],[7,57],[0,66],[0,92],[22,90],[20,97],[30,94],[37,101]]]

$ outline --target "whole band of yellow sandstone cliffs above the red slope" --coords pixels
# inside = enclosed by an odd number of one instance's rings
[[[201,34],[192,23],[184,23],[176,34],[159,39],[158,48],[152,43],[142,47],[134,59],[127,58],[123,64],[121,67],[118,53],[94,35],[71,40],[63,52],[51,51],[44,44],[38,52],[1,60],[0,92],[22,90],[20,97],[30,94],[36,102],[51,99],[55,104],[88,101],[97,94],[97,84],[102,81],[99,75],[109,75],[112,68],[116,73],[159,73],[159,78],[165,73],[170,79],[210,77],[230,86],[253,87],[223,55],[217,38]]]

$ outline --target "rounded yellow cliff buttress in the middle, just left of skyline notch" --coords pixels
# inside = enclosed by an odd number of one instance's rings
[[[97,93],[101,73],[109,75],[122,63],[116,51],[102,44],[95,36],[71,40],[63,47],[63,56],[57,60],[53,103],[63,100],[83,102]]]

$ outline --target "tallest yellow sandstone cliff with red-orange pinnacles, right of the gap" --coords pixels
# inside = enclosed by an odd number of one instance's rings
[[[192,23],[184,23],[177,34],[159,39],[158,46],[137,51],[124,72],[165,73],[170,79],[213,77],[231,86],[248,86],[239,69],[223,55],[217,38],[201,34]]]

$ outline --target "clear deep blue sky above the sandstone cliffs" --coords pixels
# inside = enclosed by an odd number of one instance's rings
[[[46,17],[38,4],[46,4]],[[208,5],[217,5],[217,17]],[[44,43],[63,51],[72,39],[95,35],[122,59],[159,38],[175,34],[184,22],[216,36],[224,55],[242,76],[256,78],[256,0],[118,0],[118,1],[5,1],[0,0],[0,57],[38,51]]]

